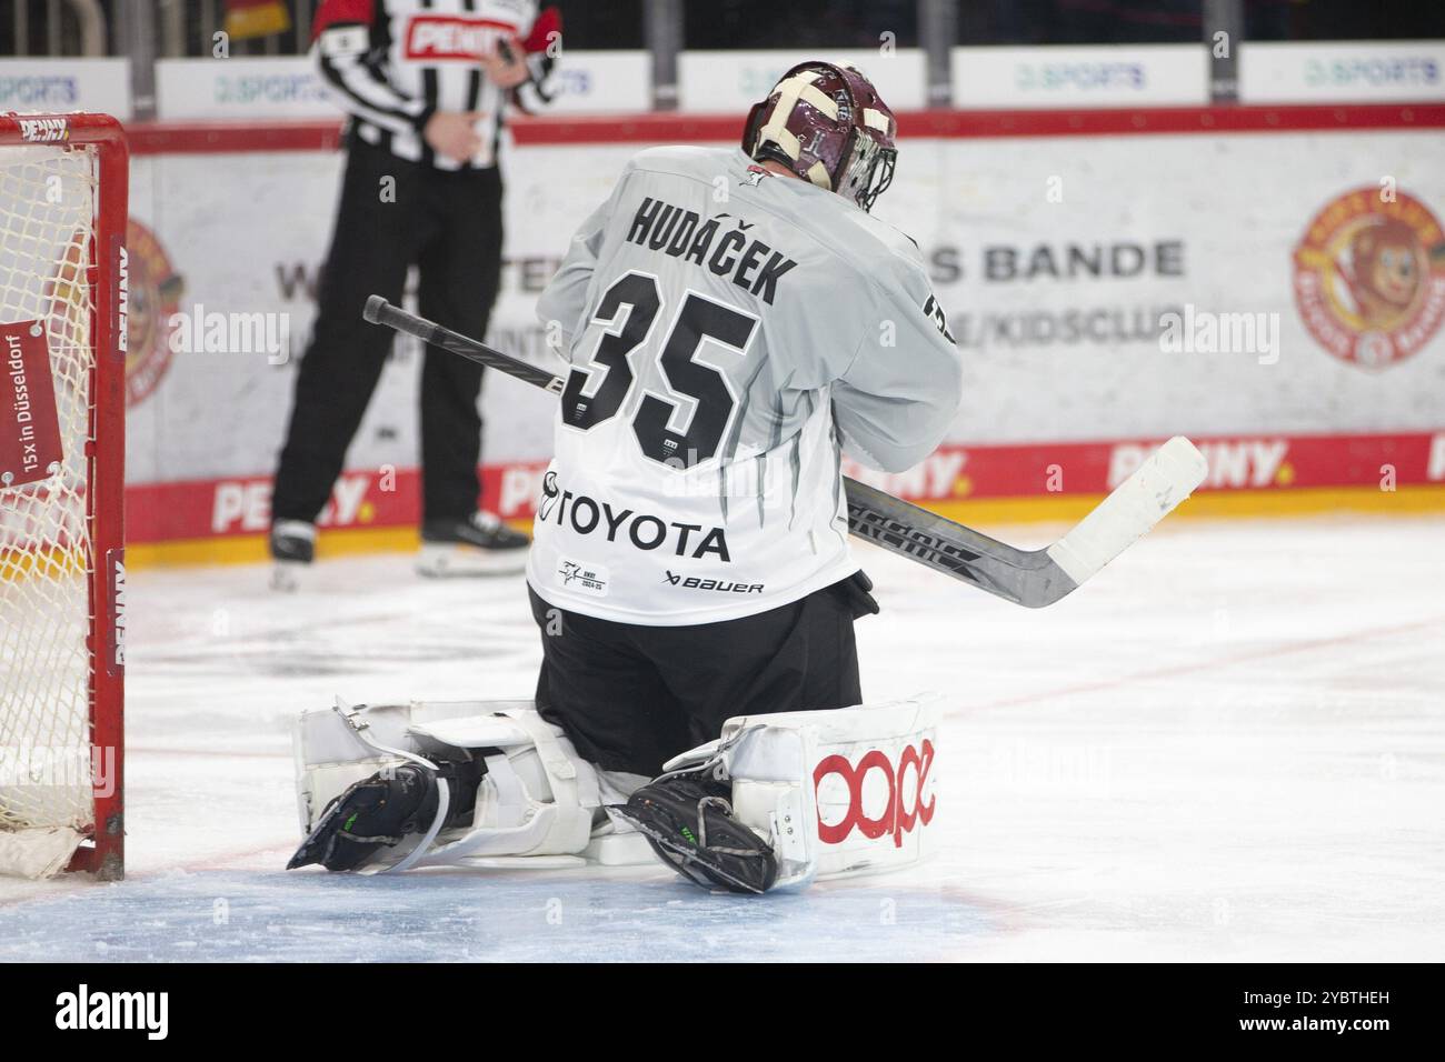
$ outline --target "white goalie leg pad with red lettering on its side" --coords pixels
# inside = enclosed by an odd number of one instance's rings
[[[733,813],[769,838],[777,886],[880,874],[933,848],[936,701],[743,715],[666,764],[720,761]]]

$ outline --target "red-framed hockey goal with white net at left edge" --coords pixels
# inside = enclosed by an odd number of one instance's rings
[[[126,146],[0,116],[0,873],[123,870]]]

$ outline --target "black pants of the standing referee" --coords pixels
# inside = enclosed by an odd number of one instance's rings
[[[367,324],[368,295],[402,301],[420,275],[419,312],[481,338],[501,272],[501,178],[496,168],[438,170],[351,137],[341,205],[321,273],[316,324],[296,373],[272,517],[315,520],[392,350]],[[465,519],[480,500],[481,367],[428,348],[422,366],[422,519]]]

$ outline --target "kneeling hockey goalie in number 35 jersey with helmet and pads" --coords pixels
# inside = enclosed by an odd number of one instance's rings
[[[631,159],[538,306],[569,374],[535,699],[305,715],[292,867],[655,854],[763,893],[926,852],[935,709],[864,704],[840,472],[910,468],[959,405],[919,251],[870,214],[894,136],[861,72],[806,62],[741,150]]]

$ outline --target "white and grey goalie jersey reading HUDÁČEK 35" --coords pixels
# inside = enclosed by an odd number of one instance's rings
[[[959,403],[913,243],[737,149],[637,155],[538,314],[572,368],[527,579],[605,620],[731,620],[851,575],[840,452],[909,468]]]

